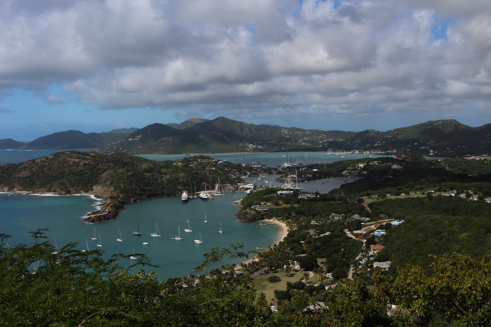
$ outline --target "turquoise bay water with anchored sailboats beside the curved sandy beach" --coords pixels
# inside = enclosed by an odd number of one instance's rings
[[[167,197],[138,202],[126,206],[118,219],[88,224],[82,216],[93,211],[101,203],[89,196],[36,196],[16,193],[0,194],[0,231],[12,235],[11,245],[31,244],[28,231],[48,228],[47,236],[53,244],[63,246],[68,242],[81,240],[79,249],[97,248],[97,241],[91,239],[96,228],[97,237],[101,235],[105,258],[113,253],[145,253],[150,256],[160,280],[169,277],[185,276],[203,260],[203,254],[214,247],[224,248],[236,242],[243,242],[244,251],[266,248],[272,245],[281,229],[278,226],[262,226],[256,223],[241,223],[235,216],[238,206],[233,201],[244,193],[226,193],[223,197],[203,201],[199,199],[183,203],[180,197]],[[205,213],[208,223],[204,223]],[[189,219],[192,232],[185,232]],[[223,234],[218,232],[222,225]],[[162,237],[150,237],[155,232],[157,222]],[[141,236],[133,235],[135,225],[139,224]],[[181,228],[182,241],[173,240]],[[123,242],[116,241],[119,229]],[[201,233],[203,244],[194,243]],[[149,245],[143,245],[148,242]],[[122,260],[120,264],[130,265],[132,260]],[[238,263],[238,262],[235,262]],[[212,267],[213,268],[213,267]],[[149,267],[145,267],[148,271]],[[134,270],[137,272],[137,269]]]

